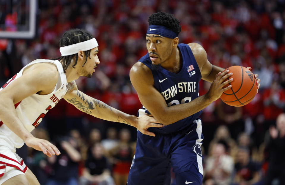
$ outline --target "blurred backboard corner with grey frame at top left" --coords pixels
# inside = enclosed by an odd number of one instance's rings
[[[33,37],[35,37],[36,34],[36,11],[37,11],[37,0],[7,0],[6,1],[6,7],[7,6],[13,6],[15,4],[21,4],[21,3],[25,3],[25,10],[28,10],[28,13],[25,15],[27,18],[26,20],[26,24],[24,25],[15,25],[16,26],[16,30],[12,30],[9,31],[6,29],[7,26],[7,22],[6,19],[4,18],[5,22],[3,24],[0,23],[0,38],[7,38],[7,39],[32,39]],[[1,2],[2,5],[5,4],[4,1]],[[0,6],[1,6],[0,3]],[[20,5],[21,6],[21,5]],[[12,9],[12,7],[11,7]],[[17,16],[21,16],[21,7],[17,9]],[[1,12],[1,11],[5,11],[5,10],[1,10],[0,9],[0,19],[1,16],[5,16],[4,14],[7,15],[7,13],[11,13],[11,12]],[[2,15],[1,15],[2,14]],[[18,17],[17,17],[18,19]],[[3,20],[3,19],[2,19]]]

